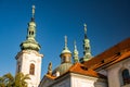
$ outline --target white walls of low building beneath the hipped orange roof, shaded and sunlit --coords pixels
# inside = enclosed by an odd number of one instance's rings
[[[107,87],[107,84],[102,78],[68,73],[54,80],[44,77],[39,87]]]

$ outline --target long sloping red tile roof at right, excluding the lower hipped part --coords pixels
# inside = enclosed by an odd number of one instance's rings
[[[105,65],[106,66],[113,65],[121,60],[128,59],[129,57],[130,57],[130,38],[117,44],[116,46],[109,48],[103,53],[84,62],[83,64],[88,69],[96,70]]]

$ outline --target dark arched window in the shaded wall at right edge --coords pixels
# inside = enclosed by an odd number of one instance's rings
[[[129,74],[129,70],[123,70],[122,71],[122,82],[123,85],[130,84],[130,74]]]

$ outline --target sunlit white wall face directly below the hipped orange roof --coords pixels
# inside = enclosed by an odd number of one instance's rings
[[[70,87],[107,87],[105,79],[99,79],[92,76],[72,74]]]

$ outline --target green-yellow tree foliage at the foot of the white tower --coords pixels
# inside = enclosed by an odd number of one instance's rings
[[[0,77],[0,87],[27,87],[27,79],[30,79],[28,74],[17,73],[13,76],[8,73]]]

